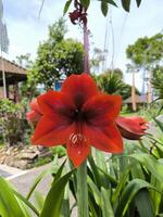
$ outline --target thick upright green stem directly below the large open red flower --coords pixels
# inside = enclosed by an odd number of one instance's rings
[[[77,168],[78,217],[88,217],[87,161]]]

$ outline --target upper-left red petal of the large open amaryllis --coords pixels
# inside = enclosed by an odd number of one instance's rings
[[[47,93],[38,97],[40,110],[46,115],[68,116],[75,105],[66,93],[49,90]]]

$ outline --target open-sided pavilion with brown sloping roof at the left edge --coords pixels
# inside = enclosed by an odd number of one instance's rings
[[[27,71],[17,64],[0,58],[0,99],[4,98],[3,74],[5,75],[7,98],[17,102],[18,82],[26,80]]]

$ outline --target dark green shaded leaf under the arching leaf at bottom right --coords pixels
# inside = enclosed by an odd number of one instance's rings
[[[142,189],[137,193],[135,202],[140,217],[155,217],[154,207],[147,189]]]

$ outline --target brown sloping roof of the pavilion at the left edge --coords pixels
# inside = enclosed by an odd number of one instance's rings
[[[27,77],[27,71],[17,64],[0,58],[0,86],[2,82],[2,68],[4,67],[5,79],[9,85],[14,84],[15,81],[25,80]]]

